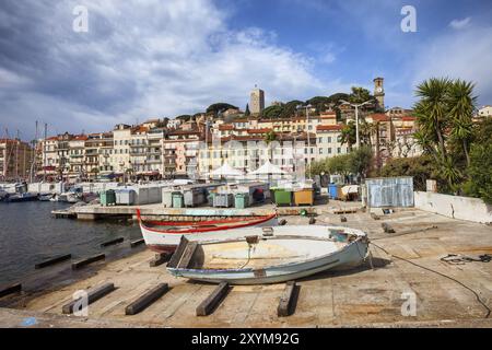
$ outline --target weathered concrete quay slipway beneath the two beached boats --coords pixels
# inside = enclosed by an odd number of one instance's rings
[[[0,299],[0,326],[492,327],[491,316],[485,318],[488,308],[492,308],[492,261],[442,260],[448,254],[492,254],[491,226],[418,209],[378,214],[378,220],[368,212],[343,213],[347,222],[340,222],[341,215],[333,213],[359,206],[336,201],[318,206],[316,224],[366,231],[372,259],[353,270],[296,281],[298,296],[290,316],[279,317],[277,313],[285,289],[285,283],[280,283],[232,287],[213,313],[198,317],[197,306],[216,285],[174,278],[165,265],[150,267],[154,254],[142,246],[81,271],[71,271],[67,262],[39,272],[35,281],[25,283],[22,293]],[[288,224],[307,224],[309,220],[301,215],[282,219]],[[389,224],[395,233],[385,233],[382,223]],[[116,290],[92,303],[89,316],[62,315],[62,306],[75,291],[105,283],[114,283]],[[142,312],[126,315],[128,305],[160,283],[169,287],[165,295]],[[415,313],[402,313],[411,298]],[[26,319],[35,323],[26,326]]]

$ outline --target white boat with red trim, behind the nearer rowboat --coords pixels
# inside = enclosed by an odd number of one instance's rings
[[[277,213],[267,215],[231,215],[226,219],[204,221],[143,221],[137,209],[140,230],[149,248],[159,253],[172,253],[181,236],[210,237],[218,232],[230,232],[251,226],[277,225]]]

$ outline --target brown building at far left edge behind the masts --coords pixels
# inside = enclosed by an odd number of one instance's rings
[[[34,150],[19,139],[0,139],[0,180],[27,179],[31,176]]]

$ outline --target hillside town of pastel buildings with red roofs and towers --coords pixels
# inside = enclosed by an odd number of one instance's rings
[[[420,154],[412,140],[415,117],[411,109],[385,109],[383,78],[374,79],[376,106],[359,110],[372,126],[371,144],[376,164],[390,158]],[[224,104],[226,105],[226,104]],[[273,102],[272,105],[281,105]],[[250,93],[247,110],[230,107],[219,115],[200,113],[190,118],[152,118],[139,125],[119,124],[110,131],[87,135],[62,133],[33,144],[19,139],[0,143],[2,180],[136,179],[203,177],[227,162],[232,167],[254,171],[265,163],[272,135],[278,142],[271,162],[285,172],[295,172],[312,161],[349,153],[352,144],[342,139],[342,129],[354,122],[351,105],[323,105],[318,110],[300,105],[288,117],[263,117],[265,92]],[[356,147],[356,145],[355,145]],[[290,156],[288,156],[288,154]]]

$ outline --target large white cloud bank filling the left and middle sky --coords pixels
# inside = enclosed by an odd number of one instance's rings
[[[196,113],[221,101],[244,108],[255,84],[268,101],[350,86],[320,81],[313,59],[276,44],[273,32],[229,28],[227,13],[209,0],[82,1],[89,33],[77,34],[71,10],[80,2],[17,12],[43,19],[31,22],[21,37],[32,40],[26,46],[34,47],[30,55],[38,62],[9,62],[16,72],[0,71],[10,77],[0,85],[0,124],[30,127],[40,119],[59,132],[96,131],[137,118]],[[15,104],[1,97],[13,80],[25,77],[34,89],[17,90]]]

